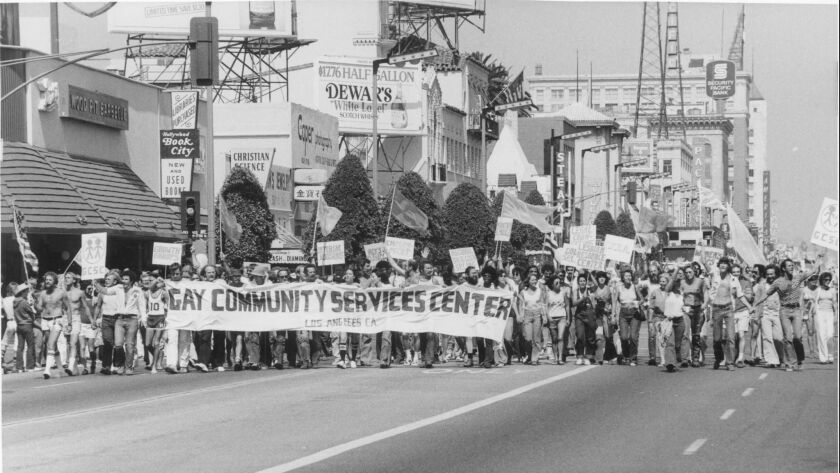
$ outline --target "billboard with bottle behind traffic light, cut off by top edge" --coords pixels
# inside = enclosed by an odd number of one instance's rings
[[[292,2],[213,2],[219,36],[288,38]],[[205,2],[119,2],[108,10],[109,33],[188,35],[190,18],[206,16]]]

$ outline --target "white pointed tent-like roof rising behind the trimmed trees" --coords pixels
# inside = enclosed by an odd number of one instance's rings
[[[537,168],[528,161],[519,144],[518,116],[514,110],[505,113],[502,131],[487,158],[487,190],[499,191],[512,186],[499,185],[499,175],[516,175],[517,189],[522,181],[536,180]]]

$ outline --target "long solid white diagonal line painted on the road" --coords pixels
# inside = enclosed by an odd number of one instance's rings
[[[457,409],[452,409],[451,411],[444,412],[442,414],[438,414],[436,416],[427,417],[425,419],[418,420],[416,422],[412,422],[410,424],[401,425],[398,427],[394,427],[393,429],[388,429],[373,435],[368,435],[367,437],[362,437],[357,440],[353,440],[347,443],[343,443],[340,445],[336,445],[334,447],[330,447],[320,452],[313,453],[312,455],[307,455],[305,457],[298,458],[297,460],[292,460],[288,463],[283,463],[281,465],[276,465],[270,468],[266,468],[265,470],[260,470],[258,473],[283,473],[286,471],[292,471],[298,468],[303,468],[305,466],[309,466],[321,461],[324,461],[328,458],[332,458],[337,455],[341,455],[342,453],[348,452],[350,450],[355,450],[360,447],[364,447],[366,445],[370,445],[372,443],[379,442],[380,440],[385,440],[390,437],[395,437],[400,434],[404,434],[407,432],[411,432],[412,430],[421,429],[423,427],[427,427],[432,424],[436,424],[438,422],[443,422],[445,420],[452,419],[453,417],[458,417],[460,415],[467,414],[472,412],[476,409],[481,409],[482,407],[487,407],[489,405],[495,404],[500,401],[504,401],[505,399],[510,399],[512,397],[519,396],[520,394],[526,393],[528,391],[532,391],[534,389],[543,387],[545,385],[555,383],[560,381],[561,379],[568,378],[570,376],[574,376],[576,374],[581,374],[587,370],[595,368],[595,366],[586,366],[582,368],[577,368],[575,370],[569,371],[567,373],[559,374],[557,376],[552,376],[551,378],[546,378],[542,381],[537,381],[535,383],[526,384],[520,388],[516,388],[514,390],[497,394],[492,397],[488,397],[487,399],[482,399],[481,401],[476,401],[472,404],[467,404],[466,406],[459,407]]]

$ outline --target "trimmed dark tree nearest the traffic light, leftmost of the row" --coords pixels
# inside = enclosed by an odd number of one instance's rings
[[[242,267],[244,261],[267,263],[271,257],[268,251],[271,242],[277,238],[277,228],[257,178],[248,169],[234,167],[225,179],[220,195],[225,199],[228,211],[242,226],[242,235],[238,243],[226,239],[225,235],[220,236],[219,242],[223,244],[216,247],[217,256],[223,251],[231,268]],[[218,222],[218,204],[215,212]],[[218,228],[215,231],[218,235]]]

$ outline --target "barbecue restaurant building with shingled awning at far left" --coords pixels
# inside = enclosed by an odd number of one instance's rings
[[[13,53],[13,54],[12,54]],[[3,49],[3,59],[39,56]],[[98,69],[44,59],[2,70],[2,277],[21,280],[13,208],[39,260],[63,272],[80,235],[108,234],[107,266],[151,267],[155,241],[182,237],[160,195],[159,140],[168,128],[165,91]],[[51,71],[51,72],[50,72]],[[163,117],[163,118],[162,118]]]

